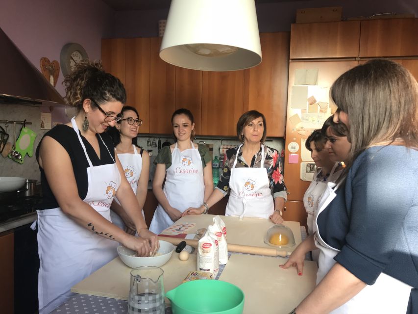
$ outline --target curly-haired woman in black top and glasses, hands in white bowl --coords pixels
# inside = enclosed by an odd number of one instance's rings
[[[44,195],[37,210],[40,314],[69,299],[72,286],[114,259],[118,242],[140,256],[158,249],[112,141],[103,134],[121,119],[126,101],[121,81],[100,63],[84,61],[64,83],[66,100],[78,113],[70,123],[48,131],[36,150]],[[111,222],[112,200],[122,195],[139,237]]]

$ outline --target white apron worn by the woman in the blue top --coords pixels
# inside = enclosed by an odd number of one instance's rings
[[[318,215],[335,198],[339,184],[327,183],[322,194]],[[326,244],[318,232],[318,215],[315,219],[315,245],[320,249],[317,285],[336,263],[334,257],[340,250]],[[332,314],[402,314],[406,313],[411,287],[403,282],[381,273],[374,285],[366,286]]]

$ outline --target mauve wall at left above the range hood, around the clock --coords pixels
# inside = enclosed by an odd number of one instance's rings
[[[100,57],[100,39],[111,36],[114,11],[101,0],[1,0],[0,27],[39,69],[41,57],[57,60],[67,43]],[[62,73],[56,84],[64,95]]]

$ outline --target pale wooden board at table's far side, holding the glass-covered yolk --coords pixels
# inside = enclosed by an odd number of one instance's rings
[[[213,224],[215,215],[188,215],[180,218],[176,223],[196,223],[194,227],[189,228],[187,234],[195,234],[199,228],[207,228],[209,224]],[[228,243],[249,245],[257,247],[271,247],[264,243],[264,236],[271,226],[275,226],[270,220],[262,218],[246,218],[240,220],[236,216],[221,216],[226,225]],[[284,221],[283,225],[289,227],[295,236],[295,245],[282,248],[288,252],[293,252],[296,246],[302,242],[300,234],[300,225],[297,221]],[[161,234],[165,234],[163,231]],[[276,247],[274,247],[276,248]],[[280,248],[277,248],[280,249]]]

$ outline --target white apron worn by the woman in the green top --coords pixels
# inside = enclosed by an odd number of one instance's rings
[[[197,147],[192,143],[192,148],[182,152],[175,143],[172,151],[172,164],[167,169],[164,194],[169,204],[185,211],[189,207],[200,207],[203,204],[205,184],[203,182],[202,159]],[[174,223],[161,204],[155,209],[149,230],[155,234]]]

